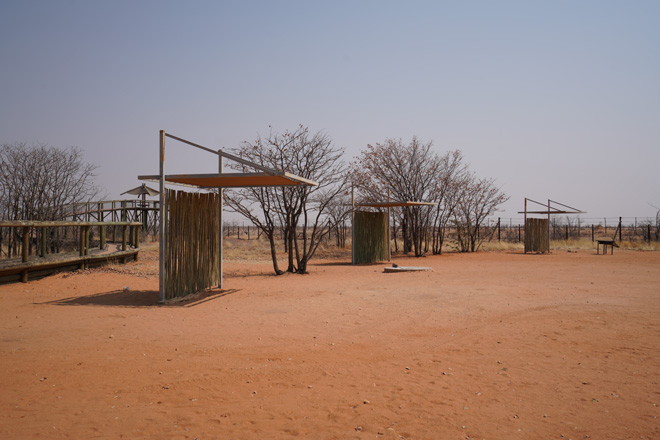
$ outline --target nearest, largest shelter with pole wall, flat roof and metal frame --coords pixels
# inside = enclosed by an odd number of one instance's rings
[[[218,158],[214,174],[165,174],[165,140],[199,148]],[[159,174],[138,176],[139,180],[160,184],[159,301],[185,296],[214,285],[222,288],[222,196],[224,188],[266,186],[317,186],[312,180],[268,168],[222,149],[213,150],[160,131]],[[251,173],[225,173],[228,159],[257,170]],[[216,190],[199,194],[166,190],[166,184]]]

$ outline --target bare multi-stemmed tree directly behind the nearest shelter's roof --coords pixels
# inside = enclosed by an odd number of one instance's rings
[[[269,238],[275,273],[284,273],[278,268],[274,242],[279,227],[285,232],[287,271],[306,273],[323,237],[345,218],[345,214],[329,215],[332,200],[345,190],[343,150],[335,147],[327,134],[310,135],[307,128],[300,126],[283,134],[271,131],[266,139],[258,137],[254,143],[243,143],[235,153],[319,183],[316,187],[246,188],[227,191],[225,195],[230,208],[243,214]]]

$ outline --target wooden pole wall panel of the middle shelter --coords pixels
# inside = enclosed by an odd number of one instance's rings
[[[389,259],[387,212],[355,211],[353,217],[354,264],[375,263]]]

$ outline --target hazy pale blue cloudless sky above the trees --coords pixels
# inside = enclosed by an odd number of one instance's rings
[[[212,148],[413,135],[511,196],[660,207],[658,1],[0,1],[0,143],[78,146],[110,198],[158,131]],[[167,172],[213,172],[168,143]]]

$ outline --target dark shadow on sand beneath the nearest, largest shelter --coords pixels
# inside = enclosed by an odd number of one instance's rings
[[[158,302],[157,290],[112,290],[110,292],[63,298],[38,304],[102,307],[194,307],[207,301],[231,295],[238,291],[238,289],[214,289],[189,295],[176,301],[168,301],[160,304]]]

